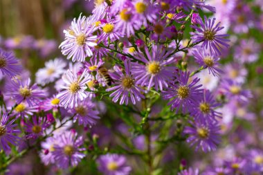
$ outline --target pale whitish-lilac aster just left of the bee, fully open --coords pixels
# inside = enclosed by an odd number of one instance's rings
[[[84,69],[82,74],[78,76],[76,68],[73,67],[72,70],[66,71],[62,76],[64,85],[61,89],[64,89],[57,94],[57,98],[60,100],[60,104],[64,108],[78,107],[78,100],[82,101],[87,98],[87,92],[85,91],[86,84],[92,80],[91,75],[87,73],[87,69]]]

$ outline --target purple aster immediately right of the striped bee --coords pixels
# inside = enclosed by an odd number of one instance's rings
[[[144,98],[142,94],[143,89],[136,85],[136,79],[131,75],[129,59],[124,61],[124,65],[125,73],[118,66],[114,66],[115,73],[111,73],[110,75],[116,86],[106,89],[106,91],[114,91],[114,93],[109,95],[109,97],[114,97],[112,99],[114,102],[118,102],[120,99],[120,104],[125,102],[127,105],[129,101],[132,104],[136,104],[136,101]]]

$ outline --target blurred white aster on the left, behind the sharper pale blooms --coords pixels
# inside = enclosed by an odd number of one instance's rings
[[[36,82],[42,86],[59,78],[65,71],[66,62],[63,59],[56,58],[46,62],[45,66],[45,68],[40,68],[36,73]]]

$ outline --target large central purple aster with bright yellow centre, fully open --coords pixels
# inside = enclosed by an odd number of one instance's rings
[[[165,53],[165,49],[160,46],[152,46],[152,50],[149,52],[145,49],[146,56],[143,53],[136,53],[134,56],[136,59],[143,62],[131,63],[131,73],[137,80],[136,84],[140,86],[147,86],[149,90],[152,86],[158,91],[168,86],[168,83],[173,77],[174,66],[168,66],[174,62],[174,57],[168,57],[170,51]]]

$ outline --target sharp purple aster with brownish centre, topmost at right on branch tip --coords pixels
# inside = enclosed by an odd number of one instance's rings
[[[201,46],[210,50],[211,54],[215,53],[215,55],[221,55],[220,50],[223,49],[222,46],[229,46],[227,44],[229,40],[226,39],[228,35],[218,34],[224,27],[220,27],[220,22],[215,25],[215,18],[207,19],[205,17],[205,22],[199,21],[199,24],[201,28],[192,26],[193,29],[197,30],[197,33],[191,33],[194,42],[203,41]]]

